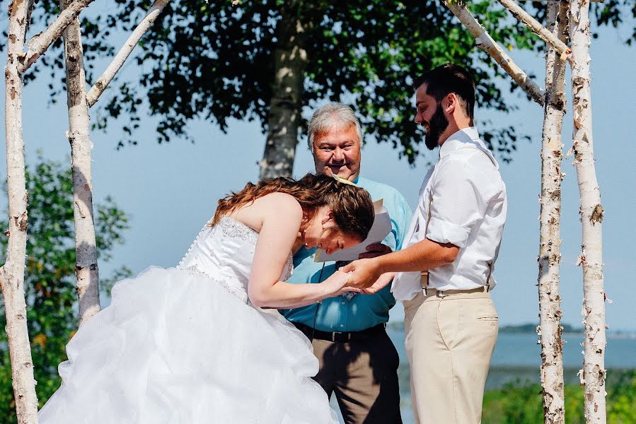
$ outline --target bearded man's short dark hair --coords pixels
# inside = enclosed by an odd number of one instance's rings
[[[449,95],[461,100],[466,114],[471,119],[475,114],[475,80],[466,69],[456,64],[445,64],[423,73],[413,80],[413,89],[426,84],[426,93],[438,103]]]

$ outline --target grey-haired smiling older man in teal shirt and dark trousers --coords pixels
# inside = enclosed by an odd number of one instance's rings
[[[335,174],[383,199],[391,216],[391,232],[383,244],[369,245],[361,257],[376,257],[400,249],[411,218],[410,207],[393,187],[360,177],[362,129],[353,110],[338,103],[316,110],[309,122],[309,148],[316,172]],[[315,249],[294,255],[294,275],[288,283],[318,283],[336,264],[313,261]],[[342,266],[338,264],[338,266]],[[395,299],[387,287],[374,295],[347,295],[318,305],[281,310],[312,341],[320,363],[314,377],[331,396],[335,393],[347,424],[398,424],[400,392],[398,352],[385,331]]]

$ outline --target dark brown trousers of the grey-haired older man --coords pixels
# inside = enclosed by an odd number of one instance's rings
[[[313,379],[335,393],[347,424],[401,424],[398,351],[385,331],[362,341],[312,341],[320,370]]]

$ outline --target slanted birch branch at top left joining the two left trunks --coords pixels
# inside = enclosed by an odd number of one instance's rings
[[[26,43],[28,51],[23,54],[22,64],[18,71],[25,73],[30,66],[37,61],[37,58],[47,51],[52,42],[62,35],[62,32],[64,32],[64,29],[67,28],[69,23],[71,23],[76,16],[79,16],[82,9],[92,2],[93,0],[74,0],[69,4],[68,8],[65,8],[64,11],[59,13],[59,16],[49,25],[49,28],[42,31],[42,33],[33,35]]]

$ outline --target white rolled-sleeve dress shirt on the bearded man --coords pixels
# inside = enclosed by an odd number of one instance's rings
[[[424,238],[456,245],[455,261],[430,269],[428,286],[438,290],[479,288],[486,284],[497,259],[506,212],[506,186],[495,157],[474,126],[462,129],[444,141],[437,163],[424,177],[403,248]],[[420,271],[398,273],[391,285],[395,299],[415,298],[422,290],[420,276]],[[491,278],[490,287],[494,285]]]

